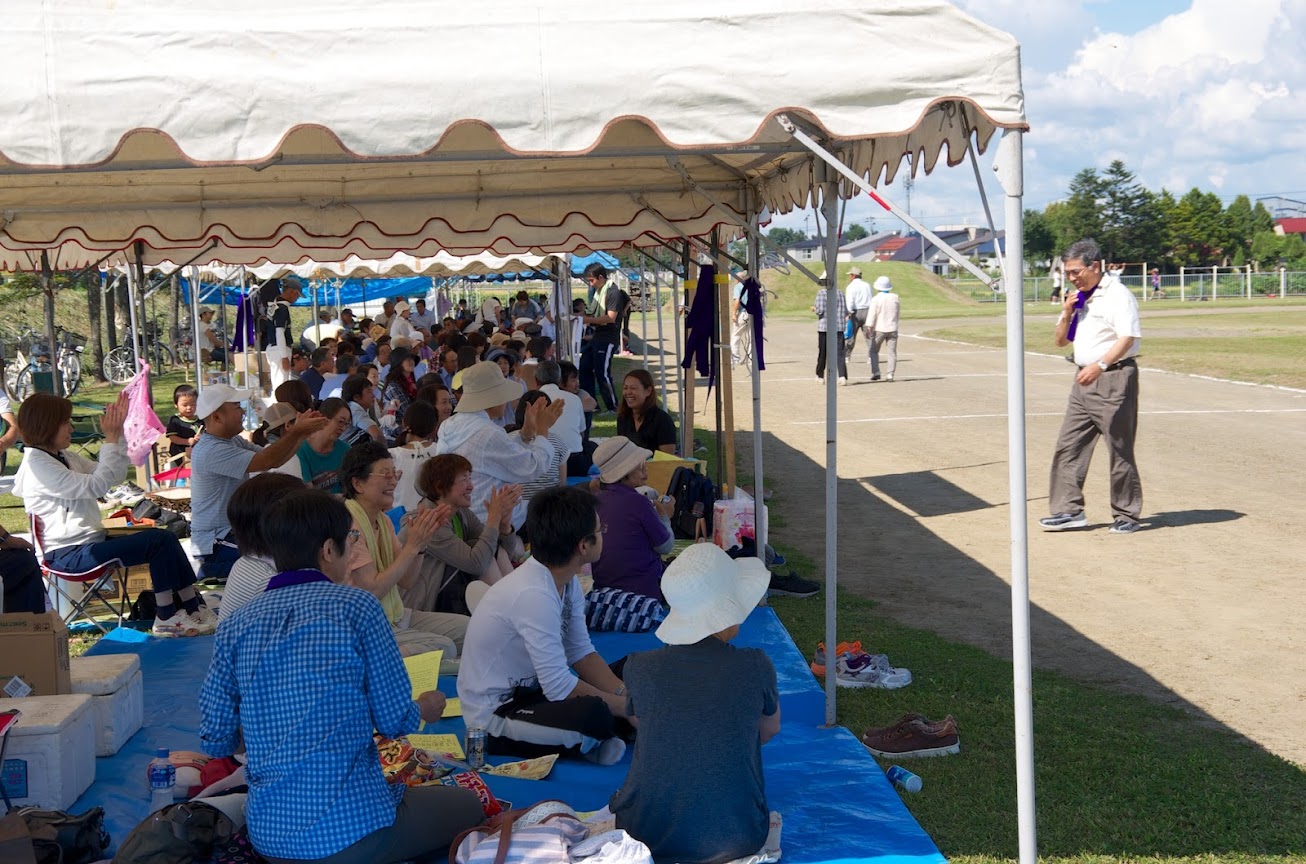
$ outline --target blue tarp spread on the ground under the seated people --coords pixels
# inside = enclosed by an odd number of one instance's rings
[[[741,629],[737,645],[761,647],[776,664],[780,684],[781,733],[763,748],[767,800],[785,820],[786,864],[942,864],[943,856],[889,786],[884,773],[857,739],[842,728],[823,730],[823,693],[806,659],[769,608],[756,609]],[[657,647],[652,634],[596,634],[594,647],[607,660]],[[95,784],[73,812],[103,807],[115,847],[149,810],[145,769],[154,749],[200,749],[197,693],[213,653],[213,638],[102,640],[93,654],[135,653],[145,677],[145,726],[116,756],[97,760]],[[454,679],[440,679],[449,696]],[[462,735],[462,720],[447,719],[426,732]],[[492,761],[508,761],[494,758]],[[629,756],[610,767],[559,760],[545,780],[487,777],[499,797],[521,807],[562,799],[579,810],[607,804],[629,767]],[[696,766],[684,766],[693,782]]]

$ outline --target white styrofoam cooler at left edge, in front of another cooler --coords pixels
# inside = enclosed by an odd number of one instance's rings
[[[22,717],[9,730],[3,782],[14,807],[65,810],[95,782],[95,711],[85,693],[5,700]]]

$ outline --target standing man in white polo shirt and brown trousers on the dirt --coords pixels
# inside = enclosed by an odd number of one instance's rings
[[[1134,534],[1143,513],[1143,482],[1134,461],[1139,418],[1139,304],[1119,279],[1102,274],[1102,253],[1093,240],[1080,240],[1062,256],[1066,299],[1057,320],[1057,345],[1074,345],[1079,372],[1071,386],[1066,419],[1053,455],[1047,506],[1040,519],[1047,531],[1081,529],[1084,478],[1098,436],[1111,457],[1111,534]],[[1074,286],[1076,291],[1071,291]]]

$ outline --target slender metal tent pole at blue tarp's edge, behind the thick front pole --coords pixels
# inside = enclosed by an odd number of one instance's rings
[[[835,726],[835,646],[838,643],[838,181],[828,167],[820,175],[825,218],[825,726]]]

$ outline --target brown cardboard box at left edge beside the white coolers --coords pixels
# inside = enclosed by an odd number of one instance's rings
[[[0,615],[0,698],[72,692],[68,628],[59,613]]]

